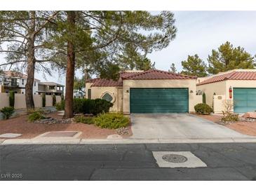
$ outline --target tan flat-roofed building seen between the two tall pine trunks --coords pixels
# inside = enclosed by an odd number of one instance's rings
[[[39,82],[38,93],[46,95],[62,95],[64,93],[64,85],[54,82]]]

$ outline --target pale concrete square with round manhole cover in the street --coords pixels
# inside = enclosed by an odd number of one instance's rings
[[[159,167],[207,167],[190,151],[152,151]]]

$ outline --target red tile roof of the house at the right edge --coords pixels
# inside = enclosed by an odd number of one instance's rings
[[[256,80],[256,71],[231,71],[227,74],[220,74],[218,76],[208,78],[197,85],[204,85],[225,80]]]

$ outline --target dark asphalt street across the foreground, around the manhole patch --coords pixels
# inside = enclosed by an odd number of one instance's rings
[[[159,167],[152,151],[190,151],[207,167]],[[256,180],[256,144],[1,145],[1,180]]]

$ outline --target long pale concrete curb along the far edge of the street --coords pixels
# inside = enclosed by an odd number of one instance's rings
[[[208,139],[6,139],[8,144],[186,144],[186,143],[256,143],[256,137]]]

